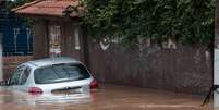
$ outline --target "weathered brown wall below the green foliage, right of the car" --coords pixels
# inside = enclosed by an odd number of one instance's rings
[[[151,45],[104,50],[89,46],[89,66],[99,82],[206,95],[212,85],[211,50],[202,46]]]

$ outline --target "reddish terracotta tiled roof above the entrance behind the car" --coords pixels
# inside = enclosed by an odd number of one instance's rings
[[[22,7],[12,9],[17,14],[34,14],[34,15],[54,15],[63,16],[63,11],[69,5],[77,5],[77,0],[35,0]],[[77,13],[71,13],[72,17],[77,16]]]

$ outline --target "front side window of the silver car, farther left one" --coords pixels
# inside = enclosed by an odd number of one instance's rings
[[[23,73],[25,66],[17,68],[14,73],[12,74],[12,77],[10,80],[10,85],[19,85],[20,76]]]

